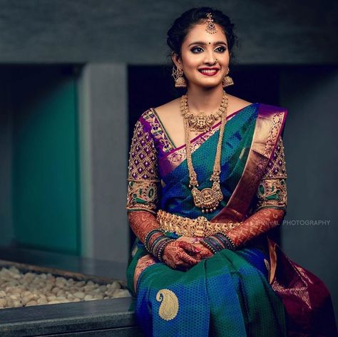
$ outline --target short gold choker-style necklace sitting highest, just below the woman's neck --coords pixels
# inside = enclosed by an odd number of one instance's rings
[[[212,125],[218,118],[225,113],[225,95],[222,97],[222,103],[216,113],[206,115],[204,111],[199,111],[198,115],[189,112],[188,95],[183,95],[181,100],[183,118],[188,120],[190,131],[205,132],[211,130]]]

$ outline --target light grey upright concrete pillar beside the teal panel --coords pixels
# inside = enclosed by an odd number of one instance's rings
[[[78,89],[82,255],[126,263],[126,66],[88,64]]]

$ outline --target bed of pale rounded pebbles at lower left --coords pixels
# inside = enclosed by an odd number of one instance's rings
[[[15,266],[0,270],[0,309],[130,296],[118,281],[96,284],[53,274],[23,273]]]

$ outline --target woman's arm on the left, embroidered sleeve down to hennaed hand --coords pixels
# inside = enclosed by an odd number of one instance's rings
[[[200,249],[185,241],[169,239],[158,230],[155,214],[160,180],[155,145],[140,120],[135,125],[128,165],[127,210],[130,227],[153,256],[172,268],[198,263]]]

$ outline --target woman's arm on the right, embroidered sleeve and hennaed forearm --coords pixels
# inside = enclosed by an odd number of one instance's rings
[[[232,249],[243,246],[282,223],[287,207],[286,178],[284,146],[280,138],[257,189],[254,213],[226,234],[235,245]],[[215,239],[216,244],[220,245],[220,237],[217,237],[217,234]],[[222,247],[227,248],[224,244]]]

